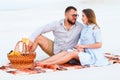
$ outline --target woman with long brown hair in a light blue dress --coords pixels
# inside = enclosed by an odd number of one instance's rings
[[[75,49],[68,50],[57,55],[54,55],[46,60],[43,60],[37,65],[41,64],[64,64],[71,59],[80,61],[84,66],[104,66],[109,62],[105,58],[101,40],[101,30],[96,22],[96,16],[92,9],[84,9],[82,11],[82,21],[84,28],[81,32],[81,37]]]

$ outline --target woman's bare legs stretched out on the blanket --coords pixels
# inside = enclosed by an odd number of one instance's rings
[[[75,51],[75,52],[65,53],[62,56],[59,56],[58,54],[58,55],[53,56],[52,58],[50,57],[48,61],[36,63],[36,66],[41,66],[41,67],[49,66],[50,67],[51,65],[54,66],[54,65],[64,64],[73,58],[76,60],[79,60],[78,52]]]

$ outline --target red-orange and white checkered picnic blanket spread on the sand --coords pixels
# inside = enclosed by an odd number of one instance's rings
[[[120,55],[113,55],[110,53],[106,53],[105,56],[108,58],[111,64],[120,64]],[[7,65],[3,65],[0,67],[0,70],[3,70],[10,74],[38,74],[38,73],[46,73],[46,72],[55,72],[55,71],[65,71],[65,70],[74,70],[74,69],[82,69],[82,68],[88,68],[91,66],[80,66],[79,64],[63,64],[63,65],[45,65],[45,66],[34,66],[33,68],[28,69],[15,69]]]

